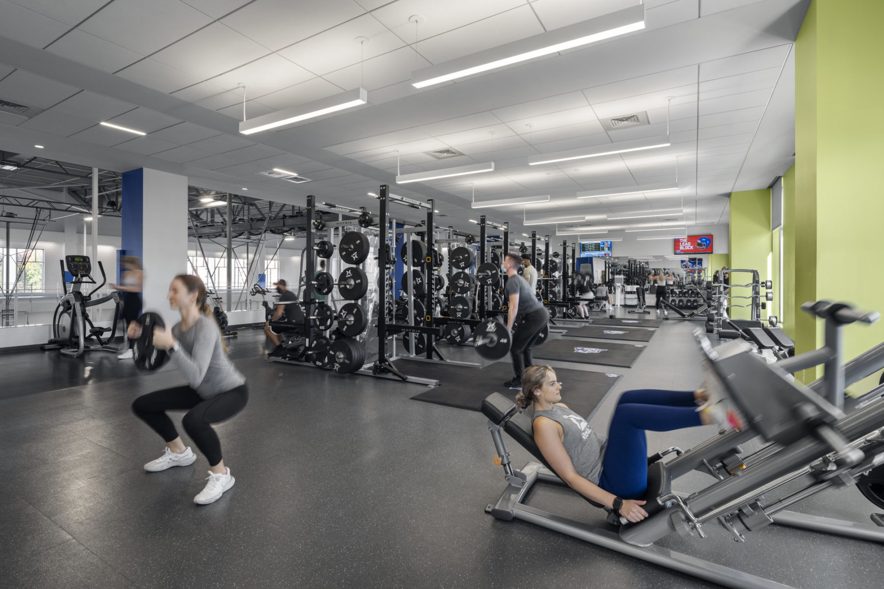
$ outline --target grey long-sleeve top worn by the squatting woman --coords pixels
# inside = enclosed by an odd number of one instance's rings
[[[200,315],[187,331],[181,330],[179,321],[172,326],[171,334],[181,344],[179,351],[171,352],[171,361],[202,398],[208,399],[246,383],[246,377],[227,358],[221,344],[221,330],[214,318]]]

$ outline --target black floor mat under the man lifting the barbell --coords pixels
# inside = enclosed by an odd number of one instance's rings
[[[498,362],[482,369],[464,366],[443,366],[414,361],[399,360],[396,364],[408,374],[420,374],[424,378],[438,379],[440,385],[412,396],[417,401],[436,403],[480,411],[482,400],[492,393],[500,393],[515,401],[519,389],[508,389],[503,383],[513,378],[513,366]],[[419,370],[415,370],[419,368]],[[586,370],[556,368],[556,377],[562,383],[562,402],[586,419],[590,419],[598,404],[620,379],[621,374],[597,373]]]

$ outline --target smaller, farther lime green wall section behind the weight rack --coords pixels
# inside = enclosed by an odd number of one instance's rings
[[[730,194],[730,264],[729,268],[758,270],[758,278],[763,283],[770,280],[768,268],[771,266],[773,252],[771,250],[771,191],[746,190]],[[731,284],[747,284],[751,275],[746,273],[732,274]],[[761,290],[764,300],[765,290]],[[748,297],[750,288],[731,289],[731,295]],[[749,305],[748,298],[731,298],[731,305]],[[769,309],[768,309],[769,310]],[[768,310],[761,312],[766,319]],[[733,307],[730,316],[734,319],[749,319],[749,308]]]

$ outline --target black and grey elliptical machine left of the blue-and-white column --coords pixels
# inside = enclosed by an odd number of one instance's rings
[[[40,346],[41,350],[60,350],[65,356],[79,358],[84,351],[112,351],[118,353],[115,346],[110,342],[117,336],[117,318],[119,311],[123,306],[122,299],[118,291],[113,291],[109,295],[92,299],[92,295],[99,291],[105,283],[107,276],[104,275],[104,267],[102,262],[98,262],[98,269],[102,273],[102,283],[98,284],[88,294],[83,294],[80,289],[83,284],[95,284],[92,277],[92,264],[88,256],[69,255],[65,256],[64,261],[59,261],[61,265],[61,283],[65,289],[65,295],[58,301],[55,313],[52,317],[52,339],[49,343]],[[67,282],[65,281],[65,266],[72,276],[71,291],[67,290]],[[90,306],[102,305],[108,301],[114,302],[113,326],[110,328],[96,328],[89,319],[87,308]],[[103,337],[110,331],[110,336]]]

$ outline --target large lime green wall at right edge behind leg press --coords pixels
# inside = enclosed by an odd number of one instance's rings
[[[827,299],[884,312],[881,22],[880,0],[814,0],[796,39],[797,306]],[[822,321],[796,311],[795,339],[796,351],[819,347]],[[848,326],[845,359],[881,342],[884,321]],[[807,382],[821,370],[796,376]],[[877,381],[875,375],[850,392]]]

